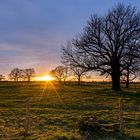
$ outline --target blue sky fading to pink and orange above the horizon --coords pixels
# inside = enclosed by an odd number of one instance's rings
[[[82,31],[91,14],[118,2],[140,9],[140,0],[0,0],[0,74],[60,64],[61,46]]]

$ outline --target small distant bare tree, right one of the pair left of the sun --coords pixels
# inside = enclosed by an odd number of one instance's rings
[[[24,69],[22,78],[27,79],[28,82],[35,76],[35,70],[33,68]]]

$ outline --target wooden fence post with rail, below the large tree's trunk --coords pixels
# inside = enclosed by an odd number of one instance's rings
[[[119,121],[120,121],[120,132],[123,132],[124,129],[124,120],[123,120],[123,112],[124,112],[124,104],[123,99],[119,101]]]

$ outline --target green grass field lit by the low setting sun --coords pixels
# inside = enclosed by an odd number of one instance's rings
[[[140,112],[139,85],[115,93],[110,84],[0,83],[0,139],[80,140],[78,120],[82,116],[94,115],[108,123],[118,123],[119,98],[127,99],[126,112]],[[30,135],[25,137],[27,99]],[[124,134],[99,133],[93,139],[140,139],[140,116],[125,116]]]

